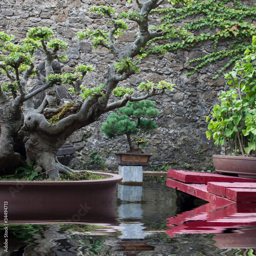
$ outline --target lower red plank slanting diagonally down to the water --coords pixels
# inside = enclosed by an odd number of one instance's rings
[[[226,198],[222,198],[209,193],[207,191],[207,185],[205,184],[186,184],[186,183],[168,178],[166,181],[166,185],[168,187],[177,188],[178,190],[183,191],[184,193],[187,193],[191,196],[195,196],[207,202],[211,202],[216,207],[222,207],[224,205],[233,203],[232,201]]]

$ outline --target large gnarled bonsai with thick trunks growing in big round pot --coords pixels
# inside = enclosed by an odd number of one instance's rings
[[[71,173],[72,169],[63,166],[56,159],[56,152],[67,138],[81,127],[87,126],[109,111],[125,106],[127,102],[147,99],[163,94],[172,84],[160,81],[140,84],[137,92],[119,87],[122,81],[139,72],[139,62],[146,56],[143,49],[162,36],[173,35],[168,27],[150,26],[150,13],[163,1],[136,1],[139,13],[116,14],[111,6],[97,6],[90,11],[105,18],[109,30],[89,30],[77,33],[79,40],[89,38],[93,47],[104,47],[113,54],[109,65],[98,86],[84,84],[84,77],[93,70],[89,65],[79,65],[74,73],[54,74],[52,63],[63,60],[62,50],[68,44],[58,38],[50,28],[38,27],[28,30],[24,40],[15,40],[13,35],[0,32],[0,70],[5,76],[0,83],[0,172],[13,172],[27,159],[34,162],[38,172],[47,172],[50,179],[59,179],[59,172]],[[118,45],[118,36],[128,29],[125,21],[138,25],[137,37],[126,45]],[[117,44],[115,44],[117,42]],[[36,59],[35,52],[41,52]],[[149,52],[147,53],[149,54]],[[38,55],[36,55],[38,56]],[[37,63],[45,60],[46,77],[38,71]],[[42,87],[29,92],[28,84],[36,74]],[[102,82],[101,82],[102,81]],[[61,105],[56,87],[58,83],[70,85],[75,99]],[[117,90],[118,89],[118,90]],[[33,96],[45,91],[44,102],[35,109]],[[119,98],[113,101],[112,93]],[[111,98],[111,103],[110,103]],[[47,115],[46,115],[47,114]],[[49,119],[49,115],[52,117]],[[47,116],[47,117],[46,117]]]

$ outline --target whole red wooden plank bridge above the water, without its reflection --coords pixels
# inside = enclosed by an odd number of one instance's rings
[[[216,206],[235,202],[256,202],[256,179],[168,170],[166,185]]]

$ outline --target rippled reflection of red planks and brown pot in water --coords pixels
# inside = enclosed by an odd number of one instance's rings
[[[222,208],[208,203],[167,219],[169,237],[212,233],[220,248],[256,247],[256,203],[233,203]]]

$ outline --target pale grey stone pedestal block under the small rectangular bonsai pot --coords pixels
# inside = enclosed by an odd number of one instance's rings
[[[119,165],[119,175],[123,177],[123,184],[141,184],[143,181],[143,167]]]

